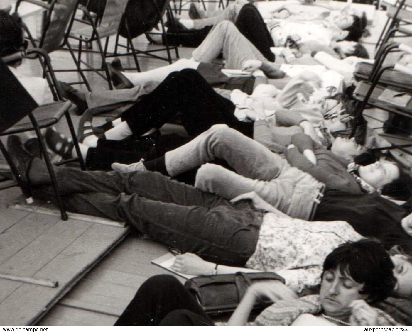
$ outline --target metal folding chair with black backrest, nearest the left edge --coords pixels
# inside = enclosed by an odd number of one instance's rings
[[[49,56],[45,51],[42,51],[41,49],[32,49],[28,50],[26,54],[27,56],[33,54],[36,54],[37,56],[42,56],[42,61],[47,66],[47,69],[51,74],[54,83],[56,82],[50,64]],[[26,54],[14,54],[12,56],[7,56],[5,60],[16,60],[19,57],[21,58],[26,56]],[[72,161],[79,161],[81,168],[84,170],[84,161],[82,159],[82,154],[80,152],[79,144],[77,142],[73,122],[71,120],[70,113],[68,112],[71,103],[69,101],[61,101],[60,99],[60,101],[39,106],[30,96],[30,94],[26,91],[26,89],[24,89],[19,80],[13,75],[13,73],[10,71],[7,64],[3,60],[0,60],[0,73],[2,77],[2,79],[0,80],[0,103],[2,105],[0,109],[0,136],[14,135],[26,131],[35,131],[40,143],[40,150],[42,152],[42,156],[44,158],[44,161],[46,162],[47,169],[52,180],[52,187],[56,194],[58,206],[61,212],[61,218],[63,220],[67,220],[68,217],[65,209],[63,208],[61,197],[59,195],[59,186],[56,181],[56,175],[54,174],[53,166],[47,153],[46,145],[44,143],[44,139],[42,137],[40,129],[53,126],[54,124],[59,122],[59,120],[63,116],[65,116],[73,139],[75,150],[77,152],[77,157],[65,160],[60,164],[66,164]],[[57,94],[60,98],[59,91],[57,91]],[[30,120],[29,122],[26,121],[27,117]],[[30,186],[28,185],[28,183],[25,183],[22,180],[21,175],[19,175],[19,173],[17,172],[16,166],[14,165],[12,158],[10,157],[9,153],[7,152],[7,149],[5,148],[1,140],[0,150],[2,154],[5,156],[5,159],[9,164],[10,169],[14,175],[14,181],[11,183],[3,183],[3,185],[0,186],[0,189],[6,189],[18,185],[21,188],[23,195],[26,197],[26,201],[28,203],[32,202],[33,199],[31,197]]]

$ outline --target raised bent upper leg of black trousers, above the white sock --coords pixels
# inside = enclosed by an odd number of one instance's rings
[[[197,136],[213,124],[227,124],[246,136],[253,126],[234,116],[234,104],[216,93],[194,69],[169,74],[159,86],[122,114],[135,136],[160,128],[178,112],[187,133]]]

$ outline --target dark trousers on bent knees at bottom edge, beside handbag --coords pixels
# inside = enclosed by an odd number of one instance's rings
[[[196,299],[173,276],[149,278],[114,326],[214,326]]]

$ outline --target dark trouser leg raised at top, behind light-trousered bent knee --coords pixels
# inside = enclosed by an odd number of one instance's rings
[[[236,28],[262,53],[267,60],[274,62],[275,55],[270,50],[274,47],[272,36],[267,30],[258,9],[248,3],[242,7],[235,22]]]

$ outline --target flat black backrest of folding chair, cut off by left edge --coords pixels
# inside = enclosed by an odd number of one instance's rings
[[[2,133],[38,105],[1,59],[0,77],[0,133]]]

